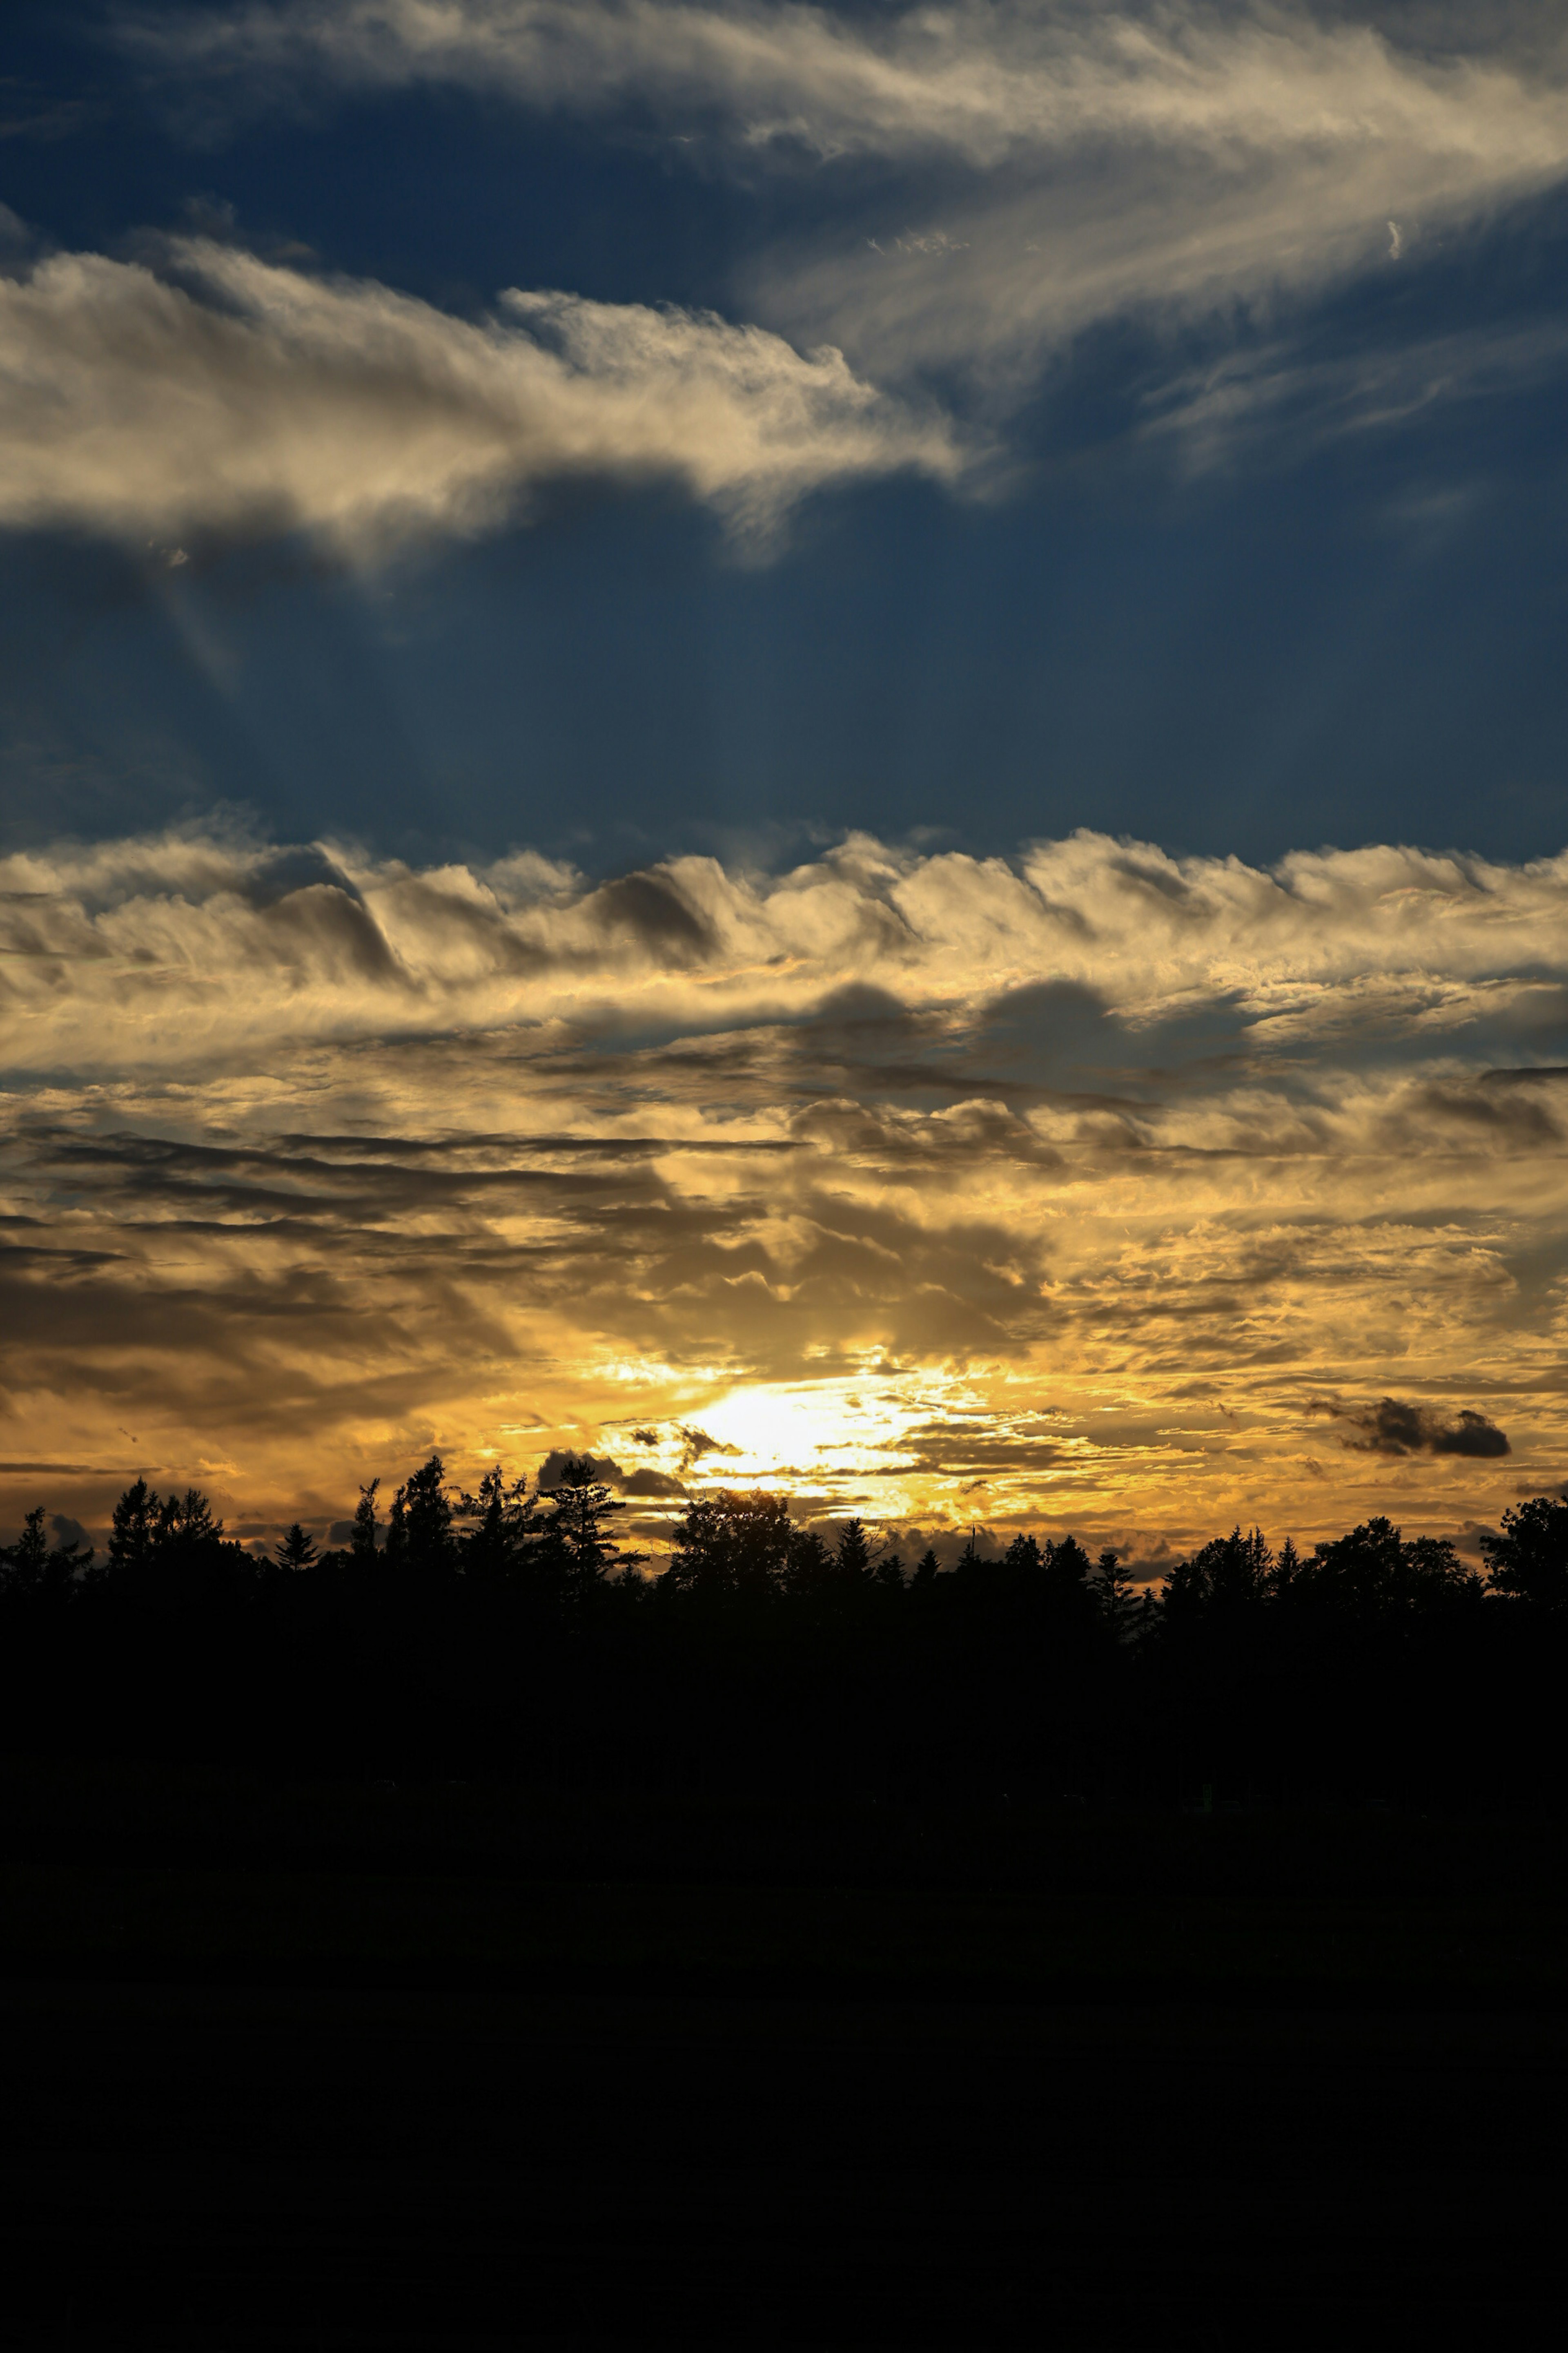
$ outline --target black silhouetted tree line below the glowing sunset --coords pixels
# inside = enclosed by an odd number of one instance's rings
[[[905,1562],[783,1494],[686,1504],[668,1565],[588,1457],[454,1489],[437,1454],[350,1541],[259,1555],[146,1480],[106,1555],[0,1553],[12,1753],[324,1777],[1058,1805],[1542,1805],[1566,1793],[1568,1501],[1467,1567],[1385,1518],[1234,1529],[1135,1591],[1114,1551]]]

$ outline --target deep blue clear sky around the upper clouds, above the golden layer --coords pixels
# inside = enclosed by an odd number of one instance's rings
[[[193,28],[237,40],[259,14],[266,71],[254,45],[190,52]],[[844,24],[877,38],[896,14]],[[1465,14],[1354,21],[1394,40],[1394,80],[1422,82],[1455,71],[1443,38]],[[169,238],[207,233],[468,320],[505,287],[548,287],[799,336],[856,325],[818,287],[846,252],[952,219],[964,249],[917,264],[957,282],[999,219],[1016,233],[1009,207],[1088,209],[1079,184],[1152,169],[1117,120],[1088,160],[1063,141],[976,160],[914,129],[870,153],[748,146],[736,122],[762,101],[717,71],[602,89],[590,59],[567,96],[407,59],[374,78],[324,61],[322,16],[14,7],[0,186],[19,254],[169,268]],[[1345,31],[1333,12],[1291,24],[1319,49]],[[954,49],[976,40],[959,28]],[[1519,104],[1559,87],[1507,40],[1460,64],[1512,75]],[[1215,71],[1218,104],[1241,108],[1239,68]],[[1443,104],[1476,111],[1455,89]],[[853,146],[837,118],[832,136]],[[614,466],[545,473],[524,506],[371,567],[287,515],[183,520],[174,576],[89,513],[14,532],[7,835],[240,802],[280,838],[534,845],[592,871],[846,826],[983,849],[1093,824],[1253,859],[1366,840],[1552,852],[1568,209],[1549,158],[1521,184],[1516,132],[1493,136],[1453,198],[1441,169],[1413,172],[1396,259],[1368,216],[1279,271],[1244,247],[1180,301],[1131,271],[1124,301],[1091,289],[990,369],[922,315],[863,334],[858,374],[940,405],[985,452],[957,480],[825,475],[764,548],[736,546],[679,475]],[[1211,151],[1173,167],[1199,233],[1220,169]],[[1312,169],[1265,179],[1258,202],[1312,242]]]

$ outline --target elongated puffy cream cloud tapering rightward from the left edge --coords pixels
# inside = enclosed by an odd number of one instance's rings
[[[470,322],[205,238],[158,273],[54,254],[0,278],[0,351],[9,527],[310,529],[369,555],[609,475],[677,480],[759,536],[825,482],[959,471],[940,421],[762,327],[520,289]]]

